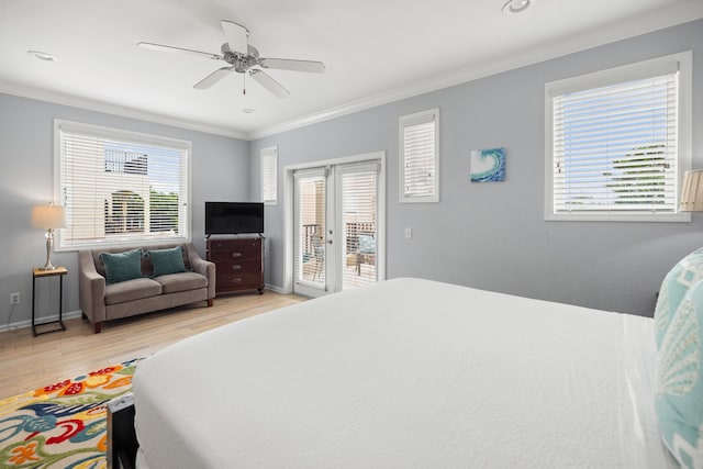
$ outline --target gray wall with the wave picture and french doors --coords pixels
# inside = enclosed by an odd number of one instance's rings
[[[693,223],[545,222],[544,86],[693,49],[693,167],[703,167],[703,21],[592,48],[252,142],[286,165],[387,152],[387,277],[416,276],[588,308],[651,315],[662,277],[703,245]],[[398,118],[440,112],[440,202],[398,202]],[[469,182],[469,150],[505,146],[500,183]],[[279,178],[279,193],[282,183]],[[282,204],[266,209],[267,282],[283,284]],[[404,239],[405,226],[413,239]]]

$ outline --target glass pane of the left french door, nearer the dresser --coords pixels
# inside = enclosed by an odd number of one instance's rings
[[[299,282],[324,289],[325,177],[297,178],[295,189],[295,278]]]

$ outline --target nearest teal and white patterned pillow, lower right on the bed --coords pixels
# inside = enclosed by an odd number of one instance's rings
[[[702,355],[703,281],[699,281],[681,300],[657,354],[657,421],[682,468],[703,467]]]

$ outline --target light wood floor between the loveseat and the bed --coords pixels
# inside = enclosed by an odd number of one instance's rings
[[[236,293],[188,306],[105,322],[100,334],[83,319],[65,321],[67,331],[32,336],[25,327],[0,333],[0,399],[75,378],[123,360],[144,357],[188,336],[244,317],[304,301],[266,291]]]

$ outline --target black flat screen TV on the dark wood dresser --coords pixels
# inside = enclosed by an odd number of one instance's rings
[[[263,202],[205,202],[205,235],[264,233]]]

